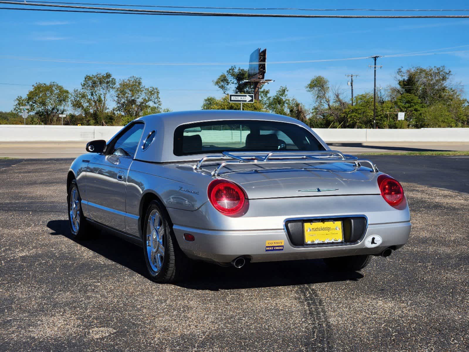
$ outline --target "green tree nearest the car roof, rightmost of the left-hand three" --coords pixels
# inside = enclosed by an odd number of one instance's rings
[[[153,108],[154,113],[161,112],[159,90],[145,87],[141,77],[131,76],[121,79],[115,89],[115,110],[124,115],[123,123],[128,123],[143,115],[144,110]]]

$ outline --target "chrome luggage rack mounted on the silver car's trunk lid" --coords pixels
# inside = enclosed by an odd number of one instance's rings
[[[264,155],[265,154],[265,155]],[[334,163],[334,162],[353,162],[356,167],[360,167],[361,163],[371,165],[371,172],[378,172],[378,168],[368,159],[358,159],[356,156],[343,154],[337,150],[309,151],[309,152],[223,152],[222,155],[208,155],[200,159],[194,170],[199,170],[205,161],[225,160],[212,171],[212,176],[217,176],[222,168],[227,165],[235,165],[240,163],[249,164],[267,164],[267,163],[298,163],[298,162],[317,162],[317,163]]]

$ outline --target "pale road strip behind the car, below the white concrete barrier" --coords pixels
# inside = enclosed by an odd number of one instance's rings
[[[10,158],[76,158],[85,152],[86,142],[1,142],[0,157]],[[376,152],[469,151],[462,142],[387,142],[328,143],[333,150],[349,154]]]

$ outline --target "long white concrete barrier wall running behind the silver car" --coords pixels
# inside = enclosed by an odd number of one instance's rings
[[[0,125],[0,142],[109,140],[120,126]],[[326,142],[469,142],[469,128],[424,128],[420,130],[314,129]],[[227,139],[239,131],[226,131]],[[233,134],[233,137],[232,135]],[[247,131],[242,131],[246,140]]]

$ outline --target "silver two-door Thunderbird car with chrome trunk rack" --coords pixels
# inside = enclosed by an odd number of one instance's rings
[[[190,260],[323,258],[360,270],[408,240],[401,184],[290,117],[149,115],[86,150],[67,178],[72,236],[91,235],[92,224],[142,246],[156,282],[181,278]]]

